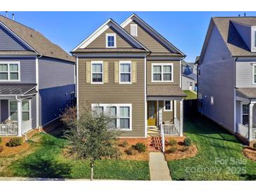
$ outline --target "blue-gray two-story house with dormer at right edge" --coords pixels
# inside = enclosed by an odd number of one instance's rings
[[[198,63],[199,111],[256,139],[256,18],[212,18]]]

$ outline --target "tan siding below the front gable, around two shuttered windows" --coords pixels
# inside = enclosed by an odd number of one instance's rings
[[[103,60],[109,64],[109,83],[86,83],[86,62]],[[131,60],[137,62],[137,83],[114,83],[114,62]],[[144,137],[144,58],[100,58],[79,59],[79,108],[86,104],[132,104],[132,128],[122,137]]]

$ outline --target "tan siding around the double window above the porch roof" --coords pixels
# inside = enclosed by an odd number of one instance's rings
[[[151,67],[152,63],[173,63],[173,82],[152,82]],[[147,85],[180,85],[180,61],[147,61]]]

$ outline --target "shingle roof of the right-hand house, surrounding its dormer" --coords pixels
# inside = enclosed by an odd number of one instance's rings
[[[234,18],[213,18],[224,42],[227,44],[233,56],[256,56],[250,52],[240,34],[237,32],[232,22],[240,22],[244,25],[256,26],[256,17],[234,17]]]

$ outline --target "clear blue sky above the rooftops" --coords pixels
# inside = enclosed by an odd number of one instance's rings
[[[5,12],[0,12],[5,15]],[[8,17],[11,18],[11,11]],[[69,52],[109,18],[121,24],[133,12],[14,12],[15,20],[41,32]],[[240,12],[135,12],[194,62],[211,17],[238,16]],[[246,12],[256,16],[256,12]]]

